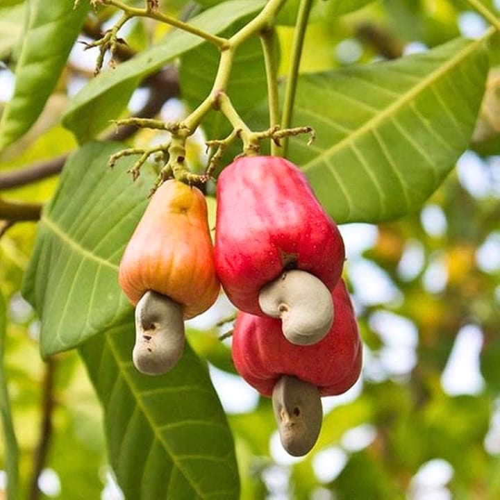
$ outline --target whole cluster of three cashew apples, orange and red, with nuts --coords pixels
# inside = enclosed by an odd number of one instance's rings
[[[360,374],[343,265],[338,227],[283,158],[238,158],[220,174],[215,247],[203,194],[166,181],[119,267],[135,306],[133,363],[144,374],[171,369],[183,353],[184,320],[207,310],[222,284],[238,308],[235,367],[272,397],[283,447],[304,455],[321,430],[321,397],[342,394]]]

